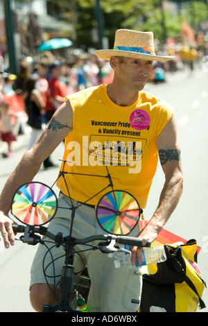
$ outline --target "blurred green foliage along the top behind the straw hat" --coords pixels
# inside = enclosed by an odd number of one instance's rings
[[[21,2],[26,1],[29,0],[21,0]],[[195,28],[208,17],[205,1],[175,0],[175,2],[187,3],[185,18]],[[72,19],[71,22],[76,29],[77,46],[98,45],[92,43],[92,29],[98,28],[96,0],[46,0],[46,3],[49,15],[61,15],[67,19],[69,15],[71,17],[76,15],[77,19]],[[180,34],[182,17],[166,10],[162,12],[162,0],[99,0],[99,3],[103,19],[103,33],[109,38],[110,47],[112,47],[114,33],[118,28],[153,31],[159,40],[164,40],[165,35],[177,37]]]

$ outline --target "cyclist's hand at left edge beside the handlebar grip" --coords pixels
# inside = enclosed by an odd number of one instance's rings
[[[3,237],[5,248],[9,248],[10,245],[15,245],[15,234],[12,229],[13,223],[14,222],[9,216],[0,212],[0,232]]]

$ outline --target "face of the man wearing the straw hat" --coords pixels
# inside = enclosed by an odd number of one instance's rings
[[[143,89],[150,78],[153,61],[125,57],[122,60],[117,57],[113,58],[116,60],[115,77],[119,83],[130,87],[131,90],[140,91]]]

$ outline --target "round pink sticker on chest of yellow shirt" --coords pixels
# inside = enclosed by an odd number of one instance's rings
[[[144,130],[150,126],[150,116],[144,110],[135,110],[130,115],[130,124],[136,130]]]

